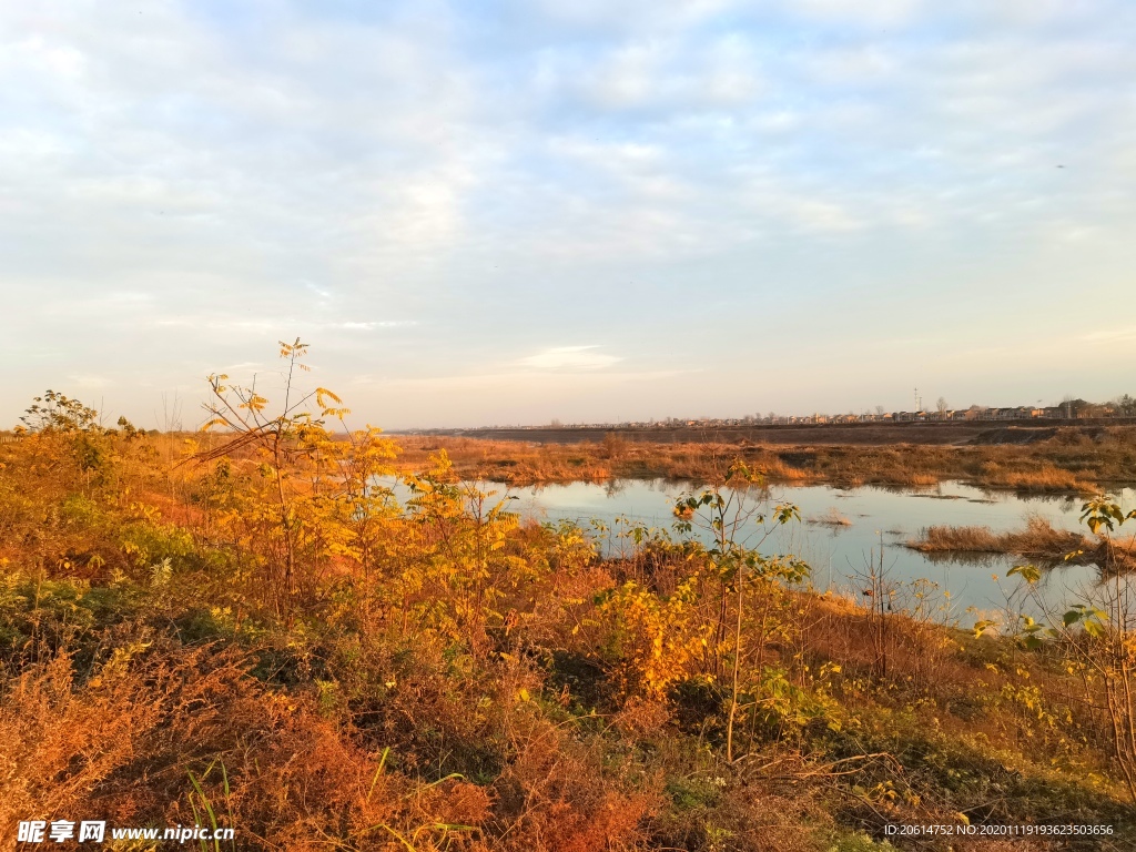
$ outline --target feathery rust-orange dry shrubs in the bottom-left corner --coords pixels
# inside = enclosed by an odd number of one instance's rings
[[[479,847],[485,790],[389,770],[309,696],[249,678],[239,653],[153,645],[119,637],[84,684],[60,654],[8,685],[0,830],[34,817],[193,825],[208,802],[243,843],[274,849],[321,849],[331,836],[349,849],[399,837]]]

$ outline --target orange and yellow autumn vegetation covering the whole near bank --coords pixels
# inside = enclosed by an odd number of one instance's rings
[[[304,346],[282,354],[292,375]],[[326,389],[282,409],[210,387],[212,435],[103,428],[49,392],[0,443],[2,836],[201,815],[264,852],[1008,849],[899,824],[1101,827],[1029,841],[1043,852],[1136,836],[1120,598],[992,635],[939,624],[932,586],[894,611],[885,577],[857,600],[807,591],[800,559],[738,544],[803,521],[741,487],[762,471],[736,459],[701,468],[677,537],[632,526],[604,558],[463,482],[444,448],[343,440]],[[399,503],[374,483],[408,463]],[[1119,509],[1087,506],[1119,535]]]

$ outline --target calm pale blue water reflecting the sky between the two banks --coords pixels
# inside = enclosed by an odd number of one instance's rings
[[[610,528],[621,516],[669,528],[674,523],[675,499],[691,486],[666,481],[621,481],[608,485],[485,487],[498,490],[499,495],[517,498],[515,509],[537,520],[570,519],[586,527],[598,519]],[[1126,511],[1136,506],[1130,488],[1119,496]],[[1044,517],[1056,528],[1083,529],[1079,498],[1028,499],[959,483],[943,483],[932,491],[785,486],[772,488],[767,502],[770,507],[794,503],[804,520],[779,528],[761,550],[804,559],[812,567],[811,583],[816,588],[859,596],[867,587],[869,562],[879,563],[883,542],[883,566],[895,585],[896,605],[922,605],[938,620],[958,621],[964,627],[978,618],[1002,615],[1004,619],[1008,611],[1039,613],[1038,603],[1026,599],[1021,582],[1017,577],[1006,578],[1006,571],[1022,560],[928,557],[904,548],[903,542],[934,525],[986,526],[995,532],[1020,529],[1030,516]],[[836,517],[851,523],[846,526],[826,523]],[[757,532],[757,526],[752,529]],[[609,534],[607,546],[617,549],[619,542]],[[1095,579],[1096,571],[1089,566],[1047,571],[1039,584],[1044,605],[1056,609],[1085,600],[1092,594]],[[917,593],[924,596],[917,599]]]

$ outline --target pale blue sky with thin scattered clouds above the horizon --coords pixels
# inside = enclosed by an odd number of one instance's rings
[[[1130,0],[0,5],[0,426],[1136,394]]]

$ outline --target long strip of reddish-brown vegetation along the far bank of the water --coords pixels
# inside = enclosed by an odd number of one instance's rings
[[[954,479],[1024,493],[1092,494],[1136,483],[1136,427],[1063,427],[1028,443],[753,444],[708,440],[660,443],[609,433],[600,442],[533,443],[400,435],[400,470],[445,450],[466,478],[538,485],[608,479],[705,482],[741,459],[770,483],[930,487]],[[1049,434],[1049,433],[1046,433]]]

